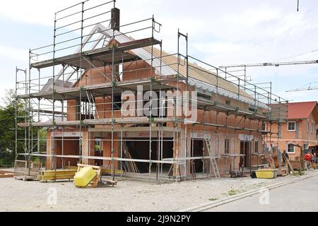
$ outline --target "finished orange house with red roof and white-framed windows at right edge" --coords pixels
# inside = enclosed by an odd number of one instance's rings
[[[266,130],[273,134],[267,138],[283,152],[286,150],[291,160],[300,157],[300,145],[306,150],[309,145],[317,144],[318,105],[317,102],[288,103],[288,121],[281,124],[266,124]],[[270,128],[271,127],[271,128]]]

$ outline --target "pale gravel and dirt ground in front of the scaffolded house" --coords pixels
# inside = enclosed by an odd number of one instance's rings
[[[170,212],[283,182],[292,177],[202,179],[167,184],[123,179],[117,186],[97,189],[78,189],[73,182],[23,182],[4,178],[0,179],[0,211]],[[52,191],[57,191],[56,204],[52,203]]]

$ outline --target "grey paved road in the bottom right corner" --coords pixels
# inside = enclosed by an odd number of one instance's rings
[[[318,175],[242,198],[206,212],[318,212]]]

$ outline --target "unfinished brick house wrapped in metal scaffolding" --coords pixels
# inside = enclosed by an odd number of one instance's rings
[[[115,1],[89,4],[57,12],[53,44],[31,49],[29,69],[16,71],[16,98],[25,103],[18,159],[158,181],[265,163],[273,133],[264,124],[286,119],[287,107],[275,105],[285,100],[189,56],[188,35],[177,33],[176,54],[164,52],[153,17],[122,25]]]

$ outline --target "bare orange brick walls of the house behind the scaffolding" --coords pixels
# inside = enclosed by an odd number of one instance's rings
[[[141,69],[141,70],[137,70]],[[143,61],[138,61],[137,63],[131,63],[131,64],[124,64],[124,75],[122,76],[123,81],[131,81],[135,79],[141,79],[141,78],[149,78],[149,74],[151,73],[151,68],[148,66]],[[102,73],[105,73],[106,75],[103,76]],[[95,85],[99,83],[110,83],[110,78],[111,78],[111,68],[109,66],[105,68],[100,68],[100,69],[94,69],[92,71],[88,71],[85,76],[81,78],[81,80],[76,84],[77,86],[83,86],[83,85]],[[153,70],[153,76],[155,76],[155,70]],[[171,83],[170,85],[173,85],[175,83]],[[175,84],[176,85],[176,84]],[[179,88],[182,90],[185,90],[185,84],[184,83],[179,83]],[[190,88],[190,90],[193,90],[193,88]],[[226,97],[220,97],[220,96],[215,96],[213,95],[212,97],[213,101],[217,101],[220,103],[225,104],[226,100],[228,100]],[[110,105],[110,99],[105,97],[97,97],[95,98],[95,103],[97,105],[98,109],[98,114],[100,118],[111,118],[111,105]],[[76,120],[76,100],[69,100],[68,101],[68,121],[74,121]],[[231,100],[231,105],[234,107],[240,107],[241,109],[248,109],[248,105],[244,102],[238,102],[235,100]],[[119,118],[121,117],[121,112],[116,111],[114,112],[114,118]],[[218,118],[218,119],[217,119]],[[205,121],[206,123],[211,123],[211,124],[221,124],[225,125],[226,124],[226,114],[220,113],[218,114],[218,117],[216,117],[216,112],[206,112],[204,114],[204,111],[198,110],[198,121]],[[117,126],[117,125],[116,125]],[[167,124],[167,126],[172,126],[172,124]],[[228,117],[228,126],[237,126],[237,127],[245,127],[245,128],[251,128],[258,130],[260,129],[261,124],[258,123],[258,121],[249,121],[247,119],[244,122],[244,119],[242,117],[235,117],[235,116],[229,116]],[[110,128],[110,126],[96,126],[96,128]],[[183,126],[179,125],[179,127],[183,128]],[[183,130],[184,131],[184,130]],[[259,152],[261,152],[261,133],[255,131],[255,132],[249,132],[249,131],[243,131],[243,130],[237,130],[233,131],[232,129],[228,129],[228,131],[224,128],[219,128],[216,129],[216,127],[211,127],[211,126],[202,126],[202,125],[197,125],[194,126],[192,129],[191,125],[187,126],[187,137],[185,137],[185,134],[180,134],[180,141],[179,142],[179,157],[183,157],[185,152],[189,153],[191,150],[191,147],[189,145],[189,142],[191,143],[191,133],[192,131],[194,133],[206,133],[211,136],[212,142],[213,142],[213,150],[218,153],[218,155],[221,155],[225,153],[225,138],[226,138],[226,133],[228,132],[228,138],[230,139],[230,153],[236,153],[240,154],[240,139],[239,139],[239,134],[246,133],[247,135],[252,135],[254,138],[259,140]],[[97,136],[97,135],[96,135]],[[91,133],[90,140],[88,141],[88,131],[87,129],[83,129],[83,154],[82,155],[94,155],[94,134]],[[102,139],[105,140],[110,140],[110,133],[107,136],[103,136]],[[119,136],[117,133],[114,133],[114,151],[113,151],[113,157],[119,157],[120,156],[120,143],[117,141],[119,139]],[[183,141],[183,142],[182,142]],[[184,141],[187,141],[188,148],[185,151],[185,143]],[[175,146],[175,148],[177,148]],[[48,143],[47,145],[47,153],[50,153],[50,145]],[[88,152],[90,150],[90,153]],[[103,156],[104,157],[110,157],[111,156],[111,141],[102,141],[102,150],[103,150]],[[252,153],[254,153],[254,141],[252,141],[252,147],[251,147]],[[207,150],[205,150],[206,155],[207,155]],[[176,155],[176,153],[175,153]],[[89,163],[89,164],[94,164],[93,160],[83,160],[84,163]],[[49,161],[48,161],[49,162]],[[206,161],[207,165],[209,165],[208,160]],[[230,169],[230,165],[234,165],[237,168],[238,164],[240,162],[240,159],[237,158],[235,160],[235,163],[233,163],[232,158],[221,158],[218,160],[218,164],[220,167],[220,170],[225,170],[225,169]],[[260,163],[260,160],[257,161],[257,157],[252,157],[252,165],[256,165],[257,163]],[[187,162],[187,169],[188,172],[187,174],[189,175],[189,164],[190,162]],[[104,160],[103,161],[103,167],[110,167],[110,161]],[[115,167],[118,168],[118,163],[115,163]],[[51,167],[48,163],[47,167]]]

